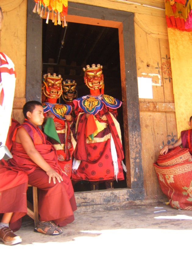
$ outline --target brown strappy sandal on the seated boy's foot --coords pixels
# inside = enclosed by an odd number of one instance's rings
[[[44,231],[45,228],[49,228],[47,232]],[[55,230],[57,230],[59,233],[54,233]],[[60,235],[63,233],[63,229],[56,226],[53,221],[41,222],[40,220],[37,228],[35,228],[34,231],[40,232],[46,235],[52,235],[52,236]]]

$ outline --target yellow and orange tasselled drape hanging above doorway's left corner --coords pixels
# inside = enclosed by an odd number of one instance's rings
[[[37,12],[41,18],[46,18],[47,24],[49,21],[49,12],[51,11],[51,19],[54,25],[62,24],[62,27],[67,26],[65,16],[67,15],[68,0],[34,0],[34,2],[35,7],[33,12]]]

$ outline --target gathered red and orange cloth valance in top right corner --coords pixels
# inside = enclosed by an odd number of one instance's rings
[[[167,27],[192,31],[192,0],[165,0]]]

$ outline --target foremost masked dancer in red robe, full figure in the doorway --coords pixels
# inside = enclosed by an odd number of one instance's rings
[[[121,130],[116,119],[117,108],[122,102],[103,94],[100,64],[87,65],[83,70],[90,95],[73,101],[77,144],[71,178],[74,181],[90,181],[91,190],[98,190],[101,182],[105,182],[106,189],[111,189],[114,180],[124,180]]]

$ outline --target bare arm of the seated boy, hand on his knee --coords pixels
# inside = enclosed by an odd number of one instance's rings
[[[51,168],[51,166],[44,160],[41,154],[36,150],[33,141],[27,133],[27,131],[25,130],[25,128],[20,127],[17,129],[15,141],[21,143],[30,159],[47,173],[47,175],[49,176],[49,183],[51,182],[51,178],[53,179],[54,184],[55,178],[59,182],[61,182],[62,177],[59,175],[59,173],[55,172],[55,170]]]

